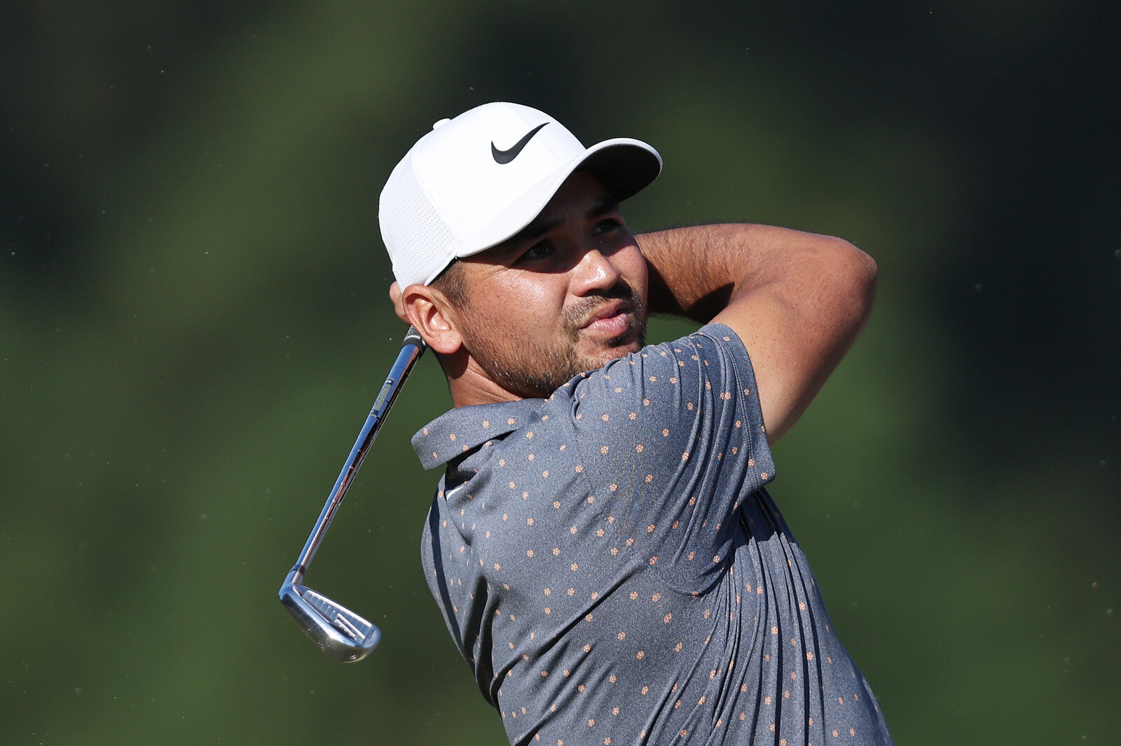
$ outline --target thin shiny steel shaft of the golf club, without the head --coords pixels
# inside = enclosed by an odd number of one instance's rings
[[[312,534],[307,538],[307,543],[304,544],[304,550],[299,553],[299,558],[296,560],[296,565],[288,576],[289,582],[298,584],[304,579],[307,566],[311,565],[312,558],[315,557],[315,550],[319,548],[319,542],[327,532],[327,526],[331,525],[331,521],[335,516],[335,511],[339,510],[343,497],[346,496],[346,491],[350,488],[354,475],[358,474],[359,467],[362,466],[362,459],[365,458],[367,451],[370,450],[374,438],[378,437],[378,430],[381,429],[382,420],[393,405],[393,400],[397,399],[397,392],[400,391],[401,384],[405,383],[405,379],[409,375],[409,371],[413,370],[413,365],[426,347],[427,345],[425,345],[424,339],[410,326],[409,330],[405,334],[405,338],[401,341],[401,352],[398,353],[397,361],[389,370],[386,383],[382,384],[381,391],[378,393],[378,399],[373,402],[373,408],[370,410],[369,417],[365,418],[362,430],[358,433],[358,440],[354,441],[354,447],[351,448],[350,456],[346,457],[346,463],[343,464],[343,468],[339,473],[339,478],[335,481],[335,486],[331,489],[331,495],[323,506],[323,512],[319,513],[319,519],[315,522]]]

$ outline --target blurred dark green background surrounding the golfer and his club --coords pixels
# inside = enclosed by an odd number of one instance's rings
[[[637,229],[880,264],[773,495],[897,743],[1121,743],[1118,3],[16,0],[0,11],[0,739],[499,744],[421,577],[392,165],[492,100],[654,143]],[[654,337],[684,330],[655,326]]]

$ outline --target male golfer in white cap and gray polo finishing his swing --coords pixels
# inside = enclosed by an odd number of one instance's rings
[[[433,595],[512,744],[890,744],[763,488],[876,265],[760,225],[636,236],[619,202],[660,168],[493,103],[393,169],[391,299],[455,404],[414,438],[444,467]],[[643,347],[650,313],[704,326]]]

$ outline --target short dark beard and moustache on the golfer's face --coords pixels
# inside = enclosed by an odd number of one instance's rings
[[[578,355],[576,353],[581,325],[604,302],[612,299],[627,301],[629,306],[627,310],[631,314],[631,321],[627,332],[609,339],[606,346],[612,349],[618,348],[629,337],[636,335],[638,347],[641,348],[646,341],[647,318],[642,299],[629,286],[613,288],[599,296],[584,298],[564,309],[560,314],[563,339],[558,342],[515,339],[511,344],[497,344],[493,328],[488,335],[466,321],[473,316],[470,310],[463,315],[464,337],[471,356],[492,381],[519,397],[545,399],[574,376],[602,367],[624,354]]]

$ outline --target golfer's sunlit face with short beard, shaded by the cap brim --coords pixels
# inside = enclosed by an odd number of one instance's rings
[[[462,260],[457,309],[471,363],[522,398],[636,352],[646,334],[647,267],[619,206],[573,174],[524,231]]]

